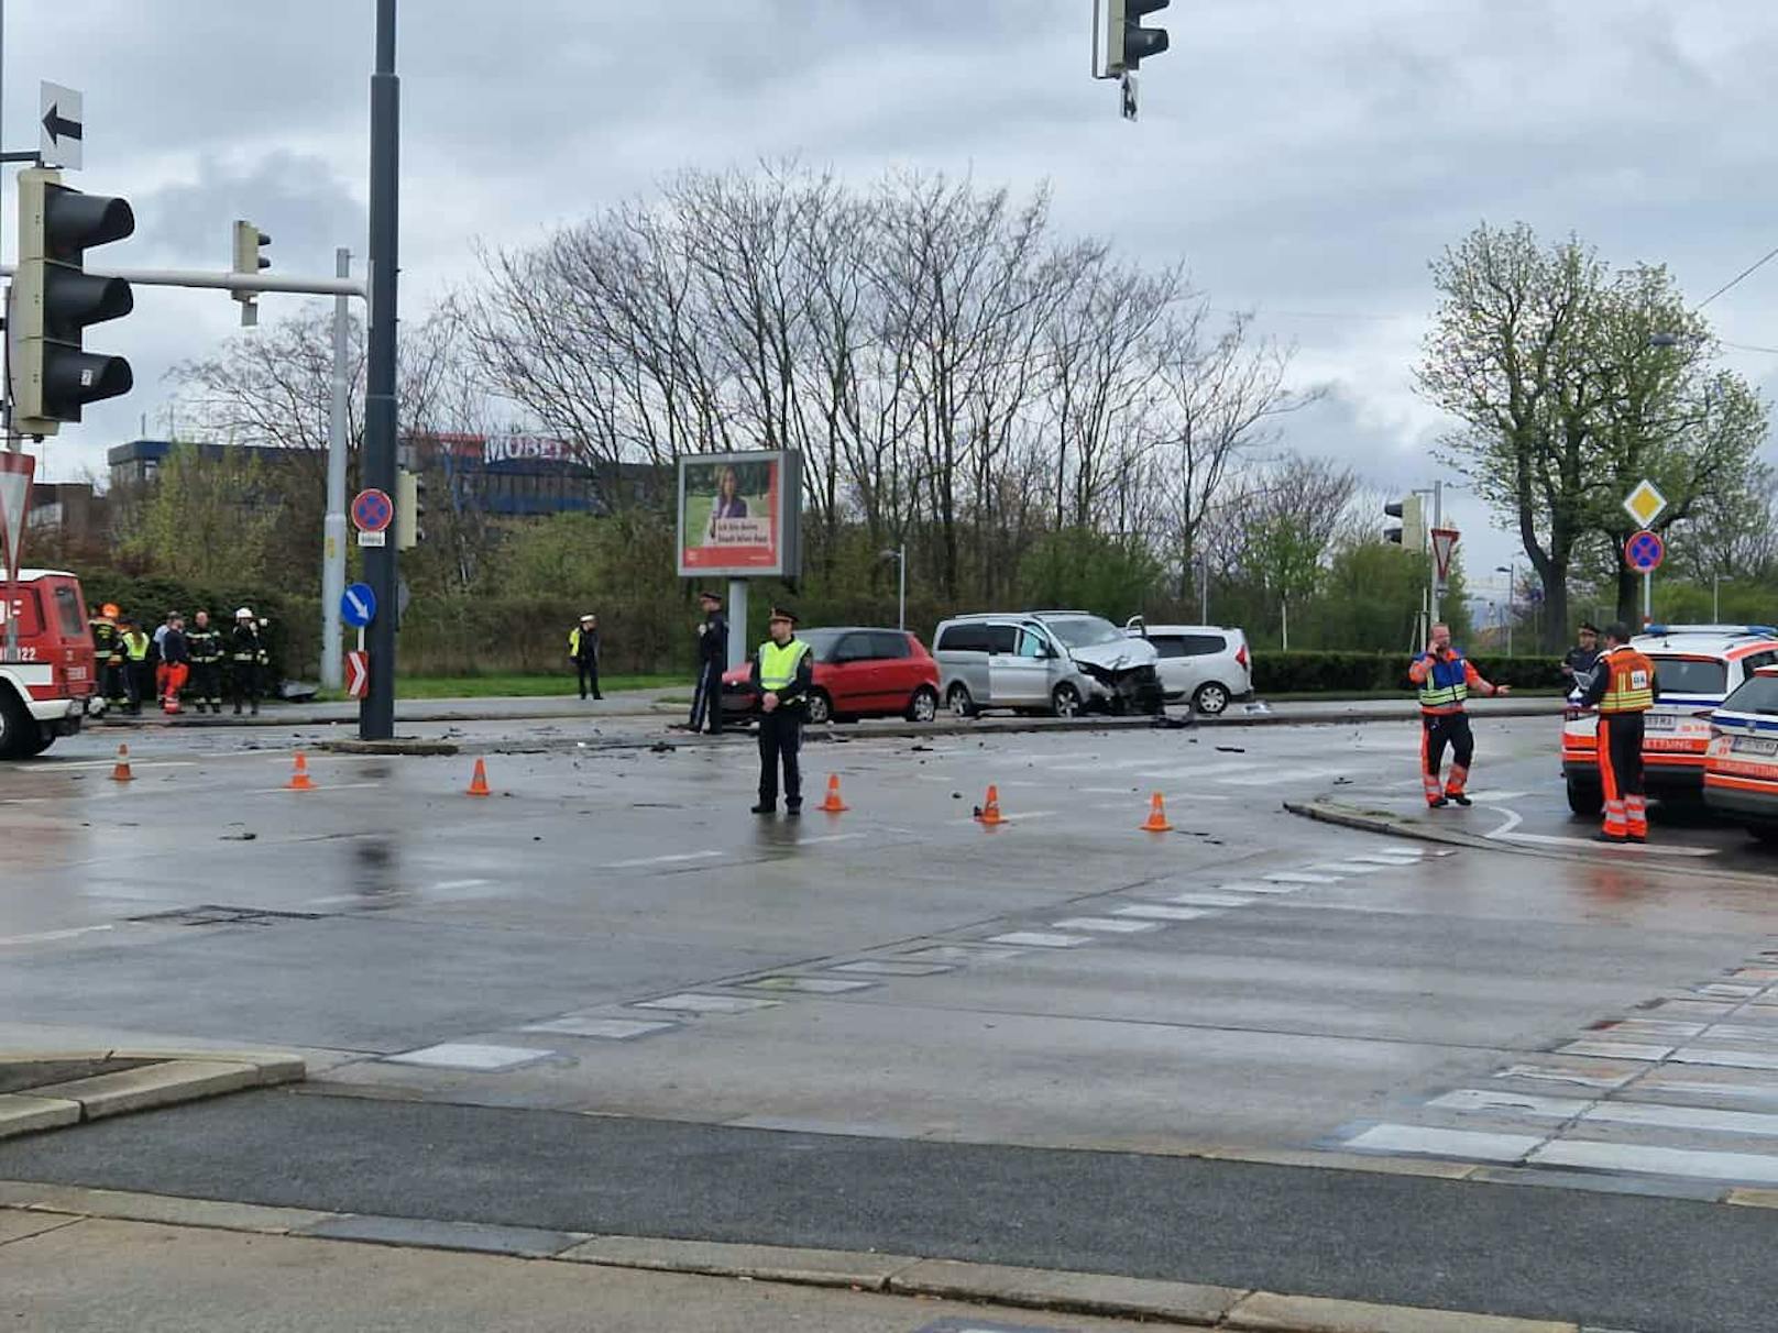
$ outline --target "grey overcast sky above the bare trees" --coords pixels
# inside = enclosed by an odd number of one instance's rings
[[[117,265],[226,268],[251,217],[274,272],[331,275],[336,245],[363,251],[373,9],[14,0],[5,146],[36,144],[41,78],[82,89],[69,183],[135,206]],[[539,238],[685,165],[1047,180],[1065,231],[1182,258],[1218,307],[1294,343],[1298,384],[1326,398],[1287,443],[1383,489],[1440,475],[1447,423],[1410,370],[1428,259],[1478,222],[1670,263],[1694,300],[1778,245],[1771,0],[1175,0],[1134,126],[1088,76],[1092,0],[405,0],[400,18],[405,316],[471,274],[477,242]],[[11,181],[4,217],[11,256]],[[1778,261],[1709,315],[1778,347]],[[139,288],[89,334],[137,389],[50,441],[50,475],[103,467],[144,418],[164,434],[167,366],[236,323],[224,293]],[[1732,357],[1778,389],[1778,352]],[[1453,512],[1472,581],[1513,555],[1463,494]]]

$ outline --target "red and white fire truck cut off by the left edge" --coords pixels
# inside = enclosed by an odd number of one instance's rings
[[[78,732],[96,690],[80,579],[53,569],[0,579],[0,759],[30,759]]]

